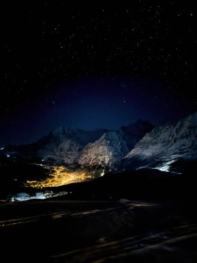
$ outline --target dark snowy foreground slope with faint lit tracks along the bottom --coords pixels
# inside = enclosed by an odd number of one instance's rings
[[[196,262],[196,202],[1,203],[1,262]]]

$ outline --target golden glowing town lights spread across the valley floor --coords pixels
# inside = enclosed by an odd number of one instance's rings
[[[71,172],[66,170],[66,167],[64,166],[46,166],[44,169],[46,169],[49,173],[48,178],[44,181],[27,181],[26,187],[56,187],[60,185],[67,185],[68,183],[87,181],[92,178],[91,174],[79,171]]]

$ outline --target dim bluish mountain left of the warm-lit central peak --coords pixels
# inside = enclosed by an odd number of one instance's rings
[[[82,129],[65,129],[60,127],[28,145],[8,145],[1,153],[23,158],[41,158],[47,163],[73,165],[85,145],[98,140],[106,129],[83,131]]]

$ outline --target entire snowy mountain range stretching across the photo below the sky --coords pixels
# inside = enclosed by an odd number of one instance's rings
[[[86,168],[98,175],[140,167],[170,170],[180,160],[197,160],[197,112],[178,123],[153,128],[138,120],[118,131],[65,129],[50,132],[30,145],[12,145],[1,153],[37,156],[46,163]],[[50,162],[52,161],[52,162]]]

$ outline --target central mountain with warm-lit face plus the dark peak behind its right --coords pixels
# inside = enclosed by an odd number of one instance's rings
[[[120,161],[136,143],[153,129],[148,121],[138,120],[119,131],[108,131],[99,140],[90,143],[82,150],[77,160],[81,167],[100,167],[104,172],[118,170]]]

